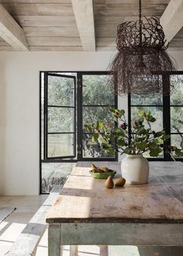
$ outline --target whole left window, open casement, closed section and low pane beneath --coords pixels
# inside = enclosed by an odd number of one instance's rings
[[[116,161],[93,144],[85,123],[106,120],[117,96],[106,71],[40,71],[40,193],[64,184],[77,161]]]

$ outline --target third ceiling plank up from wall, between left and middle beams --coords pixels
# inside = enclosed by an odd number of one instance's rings
[[[47,26],[25,26],[22,28],[26,36],[33,37],[78,37],[78,29],[76,27],[47,27]]]

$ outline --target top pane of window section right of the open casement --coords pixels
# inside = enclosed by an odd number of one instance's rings
[[[114,105],[109,75],[83,75],[83,105]]]

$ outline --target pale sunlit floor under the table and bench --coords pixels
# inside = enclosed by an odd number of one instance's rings
[[[4,256],[19,237],[26,223],[42,205],[47,195],[0,196],[1,207],[16,207],[5,221],[0,223],[0,256]],[[173,235],[173,234],[172,234]],[[183,241],[182,241],[183,243]],[[79,246],[79,256],[183,256],[182,247],[136,247],[136,246]],[[17,255],[19,256],[19,255]],[[27,256],[27,255],[25,255]],[[47,230],[37,247],[36,256],[47,256]],[[69,256],[64,247],[63,256]]]

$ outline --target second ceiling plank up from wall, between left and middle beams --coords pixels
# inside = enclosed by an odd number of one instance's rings
[[[79,37],[27,37],[30,47],[81,47]]]

